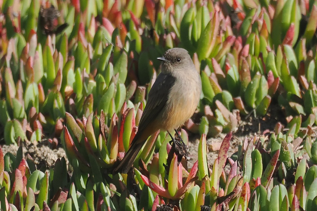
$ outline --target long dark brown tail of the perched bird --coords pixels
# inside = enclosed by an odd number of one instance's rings
[[[131,144],[128,152],[125,154],[120,164],[113,170],[113,174],[116,174],[118,172],[126,174],[130,170],[143,144],[144,142]]]

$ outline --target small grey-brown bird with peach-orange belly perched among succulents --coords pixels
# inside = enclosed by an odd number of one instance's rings
[[[137,133],[113,174],[127,173],[149,136],[158,130],[180,128],[194,114],[202,85],[199,72],[184,48],[171,48],[163,57],[161,73],[152,85]],[[173,139],[173,137],[171,136]]]

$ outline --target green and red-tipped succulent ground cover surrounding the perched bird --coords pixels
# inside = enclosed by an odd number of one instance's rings
[[[317,210],[317,3],[314,0],[0,1],[2,210]],[[202,80],[189,168],[164,131],[134,171],[129,148],[156,59],[191,55]],[[275,115],[278,115],[277,117]],[[279,121],[228,154],[248,117]],[[286,129],[283,129],[286,128]],[[206,139],[228,133],[209,163]],[[65,158],[36,169],[22,146],[48,140]],[[166,204],[165,206],[161,206]]]

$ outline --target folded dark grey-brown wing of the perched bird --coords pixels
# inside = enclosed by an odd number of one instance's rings
[[[175,81],[175,77],[163,73],[160,73],[156,78],[149,92],[146,106],[140,119],[138,131],[142,131],[164,108],[168,100],[170,89]]]

